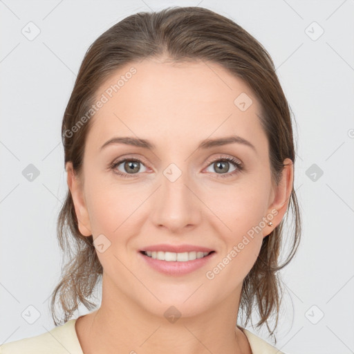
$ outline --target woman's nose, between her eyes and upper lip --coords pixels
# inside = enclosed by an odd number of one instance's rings
[[[203,203],[194,189],[187,174],[182,174],[174,182],[162,174],[150,214],[154,225],[165,227],[170,233],[180,233],[186,227],[196,227],[201,221]]]

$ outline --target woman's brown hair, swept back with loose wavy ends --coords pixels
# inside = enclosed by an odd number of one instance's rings
[[[133,61],[147,57],[167,57],[171,61],[205,60],[226,68],[252,88],[261,104],[261,125],[268,137],[272,182],[277,185],[283,170],[283,160],[295,162],[290,107],[283,93],[274,64],[259,42],[231,19],[198,7],[166,8],[160,12],[139,12],[106,30],[88,48],[73,92],[66,106],[62,122],[62,142],[65,163],[73,162],[75,174],[82,171],[85,139],[91,120],[77,126],[91,108],[97,89],[114,71]],[[71,132],[71,133],[68,133]],[[279,264],[283,222],[263,239],[261,251],[243,281],[240,310],[246,315],[245,325],[252,318],[255,305],[260,320],[274,333],[281,303],[281,281],[278,270],[294,257],[299,245],[301,222],[299,205],[294,187],[289,198],[294,216],[294,228],[286,235],[290,252]],[[288,210],[287,210],[288,217]],[[57,223],[59,245],[68,256],[62,269],[62,278],[53,290],[51,310],[55,324],[55,301],[64,310],[64,322],[70,319],[78,306],[88,310],[95,307],[88,300],[97,280],[102,275],[102,265],[97,258],[93,236],[83,236],[77,226],[77,216],[71,192],[59,213]],[[276,313],[273,330],[268,326],[272,313]]]

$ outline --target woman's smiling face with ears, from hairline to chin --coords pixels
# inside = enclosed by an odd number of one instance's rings
[[[186,317],[237,305],[292,185],[289,169],[288,189],[272,189],[261,106],[250,88],[210,62],[145,59],[104,82],[99,100],[83,186],[71,174],[68,184],[80,232],[93,235],[104,268],[102,299],[133,301],[158,316],[172,305]],[[134,143],[107,143],[113,138]],[[214,252],[194,270],[182,270],[185,262],[171,270],[140,252],[162,244]]]

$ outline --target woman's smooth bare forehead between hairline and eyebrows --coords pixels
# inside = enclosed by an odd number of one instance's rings
[[[212,62],[131,62],[100,86],[98,100],[104,104],[91,118],[86,140],[91,146],[113,136],[137,136],[156,145],[185,142],[192,147],[205,138],[232,133],[252,140],[259,149],[266,144],[254,93]]]

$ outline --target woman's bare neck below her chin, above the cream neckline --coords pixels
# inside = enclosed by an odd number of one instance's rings
[[[77,319],[77,337],[84,354],[251,353],[247,337],[236,327],[239,298],[224,299],[206,312],[183,316],[168,305],[156,314],[124,294],[106,294],[112,292],[104,292],[103,287],[100,308]]]

